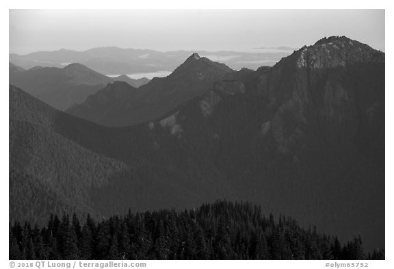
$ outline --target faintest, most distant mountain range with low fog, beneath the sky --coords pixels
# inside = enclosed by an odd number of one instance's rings
[[[223,62],[235,70],[243,67],[256,69],[263,65],[272,66],[291,53],[275,50],[245,53],[238,51],[196,51],[201,56]],[[101,47],[88,51],[39,51],[27,55],[10,54],[10,62],[23,68],[34,66],[63,67],[72,62],[79,62],[104,75],[153,73],[157,71],[174,71],[194,51],[160,52],[149,49],[120,49],[118,47]]]

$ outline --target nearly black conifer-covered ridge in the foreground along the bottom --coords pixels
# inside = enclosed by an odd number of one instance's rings
[[[382,250],[365,255],[359,236],[341,244],[257,205],[225,201],[99,222],[51,215],[43,229],[10,225],[9,241],[10,259],[384,259]]]

